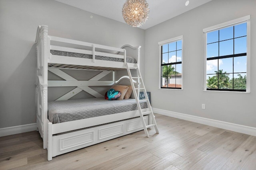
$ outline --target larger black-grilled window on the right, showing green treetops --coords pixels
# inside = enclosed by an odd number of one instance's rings
[[[249,87],[248,21],[236,20],[228,26],[216,27],[204,31],[206,90],[246,92]]]

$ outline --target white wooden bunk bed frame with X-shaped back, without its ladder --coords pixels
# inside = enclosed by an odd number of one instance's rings
[[[82,45],[90,47],[87,49],[75,49],[70,47],[62,47],[51,45],[52,41],[61,43],[68,43],[72,45]],[[92,117],[88,119],[80,119],[75,121],[68,121],[63,123],[52,124],[48,120],[48,87],[53,86],[77,86],[74,90],[68,92],[57,100],[68,100],[75,94],[84,90],[95,97],[102,97],[101,94],[92,90],[88,86],[111,86],[115,84],[115,70],[126,69],[127,64],[130,67],[139,67],[140,62],[140,46],[133,47],[131,45],[124,45],[122,48],[108,47],[93,43],[76,41],[72,39],[65,39],[48,35],[48,26],[38,26],[36,33],[36,48],[37,48],[37,80],[36,80],[36,94],[37,94],[37,128],[43,139],[43,148],[48,150],[48,160],[52,157],[76,149],[94,145],[103,141],[114,139],[123,135],[134,133],[142,130],[145,125],[142,125],[142,119],[138,118],[140,113],[138,110],[127,111],[123,113],[116,113],[112,115],[104,115],[100,117]],[[50,49],[59,51],[68,51],[73,53],[85,53],[92,55],[92,59],[84,59],[77,57],[66,57],[52,55]],[[107,51],[117,51],[117,53],[99,52],[95,49],[103,49]],[[126,51],[127,50],[127,51]],[[122,54],[120,54],[122,53]],[[132,55],[137,61],[137,64],[126,63],[126,53]],[[135,55],[134,55],[135,54]],[[95,59],[95,55],[115,57],[124,59],[124,62],[103,61]],[[102,72],[88,81],[78,81],[61,69],[95,69]],[[48,71],[57,74],[64,80],[49,81]],[[112,81],[97,81],[100,78],[113,72]],[[128,76],[126,76],[128,77]],[[151,111],[150,108],[141,109],[144,114],[146,124],[151,121],[148,116]],[[145,130],[145,128],[144,128]]]

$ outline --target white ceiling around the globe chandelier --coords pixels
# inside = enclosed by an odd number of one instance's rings
[[[56,0],[94,14],[104,16],[116,21],[124,22],[122,7],[126,0]],[[142,29],[150,28],[158,23],[169,20],[211,0],[147,0],[150,8],[148,21],[142,25]]]

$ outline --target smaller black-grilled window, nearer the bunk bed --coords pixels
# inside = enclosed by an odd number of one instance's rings
[[[160,88],[182,89],[182,36],[158,43]]]

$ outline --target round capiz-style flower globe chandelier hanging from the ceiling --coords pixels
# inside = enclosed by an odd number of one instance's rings
[[[149,7],[146,0],[126,0],[122,14],[124,21],[132,27],[140,27],[148,20]]]

